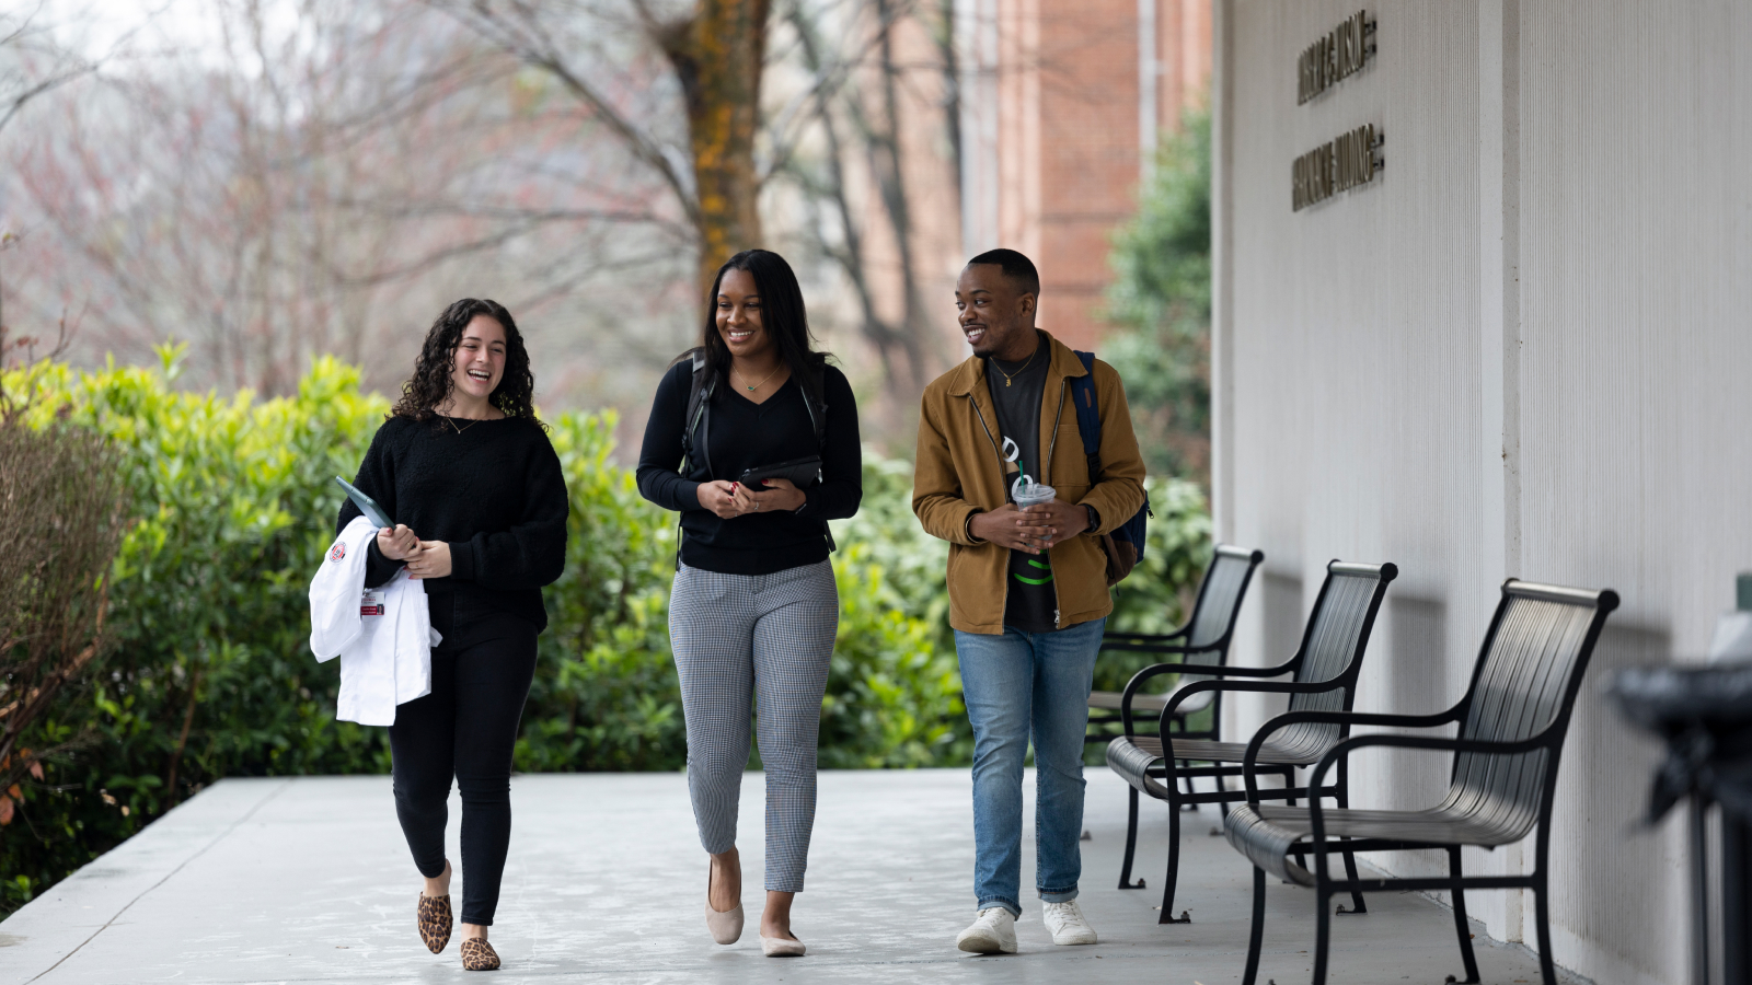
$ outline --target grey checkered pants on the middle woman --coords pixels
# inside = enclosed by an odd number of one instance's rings
[[[669,641],[687,717],[687,790],[706,852],[736,845],[748,766],[748,706],[759,698],[766,764],[766,887],[802,892],[815,827],[815,741],[839,629],[832,563],[773,575],[682,566]]]

